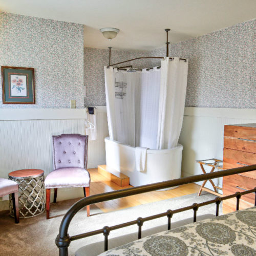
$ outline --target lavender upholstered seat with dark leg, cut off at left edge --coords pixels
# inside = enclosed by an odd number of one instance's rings
[[[19,223],[18,184],[15,181],[0,178],[0,197],[12,194],[15,223]]]

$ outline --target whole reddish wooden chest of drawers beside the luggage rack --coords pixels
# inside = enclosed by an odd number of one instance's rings
[[[256,164],[256,123],[224,126],[223,168]],[[223,177],[223,195],[252,189],[256,186],[256,170]],[[254,194],[242,196],[240,209],[254,205]],[[225,211],[236,210],[236,199],[223,202]],[[228,210],[229,209],[229,210]]]

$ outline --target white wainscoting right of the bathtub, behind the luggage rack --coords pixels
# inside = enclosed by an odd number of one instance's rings
[[[256,109],[185,108],[179,143],[183,145],[182,176],[202,174],[196,160],[223,160],[224,125],[255,123]],[[211,167],[205,166],[206,172]],[[222,187],[222,178],[214,180]],[[198,182],[198,184],[202,184]],[[209,182],[206,187],[212,189]]]

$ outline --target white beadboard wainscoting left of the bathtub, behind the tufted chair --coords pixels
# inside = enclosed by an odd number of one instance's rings
[[[104,138],[109,135],[105,106],[97,106],[95,113],[97,139],[88,143],[88,168],[105,164]],[[84,135],[86,117],[86,109],[1,109],[0,177],[25,168],[42,169],[47,176],[53,170],[52,135]],[[58,200],[83,195],[81,188],[59,190]],[[0,210],[6,208],[7,202],[1,202]]]

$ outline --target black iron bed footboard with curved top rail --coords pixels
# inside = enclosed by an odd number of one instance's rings
[[[104,235],[104,250],[108,250],[108,236],[110,234],[111,230],[115,230],[118,228],[122,227],[127,227],[131,226],[134,224],[138,225],[138,239],[141,238],[141,229],[143,222],[145,221],[150,221],[154,220],[160,217],[167,217],[167,229],[170,229],[171,226],[171,219],[174,214],[178,212],[182,212],[185,210],[193,209],[194,210],[194,222],[197,220],[197,210],[199,207],[208,205],[211,203],[216,203],[216,216],[219,215],[219,205],[221,201],[230,199],[230,198],[237,198],[237,210],[239,210],[239,201],[241,196],[249,194],[249,193],[255,193],[255,202],[254,205],[256,206],[256,187],[254,187],[251,190],[247,190],[244,192],[237,192],[236,194],[225,196],[225,197],[216,197],[214,200],[206,201],[203,203],[194,203],[193,205],[186,206],[180,209],[176,210],[170,210],[168,209],[166,212],[163,212],[162,214],[157,214],[153,215],[150,217],[146,218],[141,218],[139,217],[137,220],[122,223],[119,225],[115,226],[104,226],[101,229],[82,233],[82,234],[77,234],[75,236],[69,236],[68,234],[68,228],[70,225],[71,220],[75,216],[75,214],[82,209],[83,207],[90,205],[90,204],[95,204],[99,202],[104,202],[108,200],[113,200],[117,198],[122,198],[122,197],[127,197],[127,196],[132,196],[132,195],[137,195],[141,193],[146,193],[158,189],[163,189],[163,188],[168,188],[168,187],[174,187],[174,186],[179,186],[179,185],[184,185],[188,183],[194,183],[198,181],[203,181],[203,180],[209,180],[209,179],[214,179],[214,178],[220,178],[224,176],[229,176],[233,174],[240,174],[240,173],[245,173],[245,172],[250,172],[252,170],[256,170],[256,164],[250,165],[250,166],[244,166],[244,167],[239,167],[239,168],[233,168],[233,169],[226,169],[226,170],[220,170],[219,172],[215,173],[207,173],[207,174],[201,174],[201,175],[196,175],[196,176],[190,176],[186,178],[181,178],[181,179],[175,179],[175,180],[169,180],[169,181],[164,181],[164,182],[158,182],[158,183],[153,183],[149,185],[143,185],[143,186],[138,186],[138,187],[132,187],[132,188],[126,188],[126,189],[121,189],[117,191],[112,191],[108,193],[103,193],[103,194],[98,194],[94,196],[90,196],[87,198],[83,198],[76,202],[66,213],[66,215],[63,217],[60,227],[59,227],[59,234],[56,237],[55,243],[57,247],[59,248],[59,256],[67,256],[68,255],[68,247],[71,243],[71,241],[81,239],[81,238],[86,238],[90,236],[94,236],[95,234],[103,233]]]

